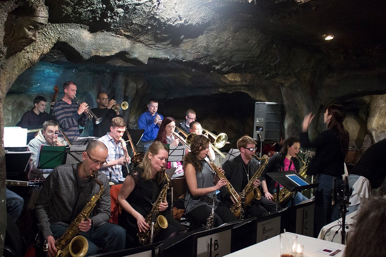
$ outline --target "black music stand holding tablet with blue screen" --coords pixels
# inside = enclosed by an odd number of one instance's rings
[[[302,179],[303,181],[306,182],[307,185],[305,186],[299,186],[298,184],[294,183],[291,181],[291,179],[287,178],[286,175],[290,174],[295,174],[298,178]],[[289,192],[297,192],[305,189],[310,189],[310,188],[317,188],[319,183],[312,184],[312,182],[308,181],[307,179],[303,178],[302,176],[299,175],[298,172],[296,171],[278,171],[278,172],[267,172],[267,175],[271,177],[274,181],[276,181],[278,184],[283,186],[283,188],[287,189]],[[279,195],[279,191],[277,192],[277,196]],[[292,195],[292,200],[291,200],[291,206],[294,205],[294,194]],[[278,199],[276,199],[278,203]],[[278,203],[279,204],[279,203]]]

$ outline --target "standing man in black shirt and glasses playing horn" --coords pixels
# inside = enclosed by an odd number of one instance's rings
[[[117,102],[108,98],[106,93],[98,93],[97,103],[98,107],[92,108],[91,112],[95,113],[98,118],[103,118],[103,120],[101,123],[95,124],[95,119],[93,119],[93,136],[103,137],[110,131],[111,120],[115,117],[122,117],[122,115],[119,114],[119,110],[115,112],[112,109]]]

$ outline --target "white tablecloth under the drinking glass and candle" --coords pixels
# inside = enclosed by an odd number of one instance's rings
[[[296,234],[298,235],[298,234]],[[334,257],[342,257],[345,249],[345,245],[339,243],[327,242],[313,237],[306,237],[298,235],[298,243],[304,245],[304,257],[330,257],[332,253],[325,254],[318,253],[323,249],[339,249],[342,250]],[[280,257],[280,239],[279,235],[273,238],[269,238],[263,242],[256,243],[250,247],[244,248],[232,254],[226,255],[228,257],[247,257],[247,256],[264,256],[264,257]]]

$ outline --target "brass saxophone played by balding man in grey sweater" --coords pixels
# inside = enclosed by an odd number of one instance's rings
[[[55,247],[58,250],[56,253],[56,257],[59,256],[68,256],[68,254],[72,254],[73,248],[74,249],[81,249],[78,256],[84,256],[88,251],[88,242],[87,239],[83,236],[76,236],[79,232],[79,223],[82,220],[87,220],[88,216],[90,216],[91,211],[94,209],[95,205],[97,204],[97,201],[99,200],[100,196],[102,196],[103,193],[103,183],[102,181],[98,181],[98,172],[93,172],[93,178],[95,179],[95,182],[99,185],[99,192],[95,194],[93,197],[91,197],[90,201],[86,204],[86,206],[83,208],[83,210],[76,216],[76,218],[71,222],[71,224],[68,226],[66,232],[59,237],[55,241]],[[76,247],[72,247],[73,245],[77,245]],[[83,254],[83,255],[82,255]]]

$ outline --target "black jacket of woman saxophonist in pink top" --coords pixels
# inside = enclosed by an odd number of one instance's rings
[[[261,174],[261,181],[265,180],[267,183],[268,192],[272,194],[273,188],[275,186],[275,181],[271,177],[267,176],[268,172],[277,172],[284,170],[284,158],[285,156],[281,153],[275,154],[268,159],[267,166],[264,168],[263,173]],[[293,166],[295,166],[296,172],[299,171],[300,165],[298,158],[291,157]]]

